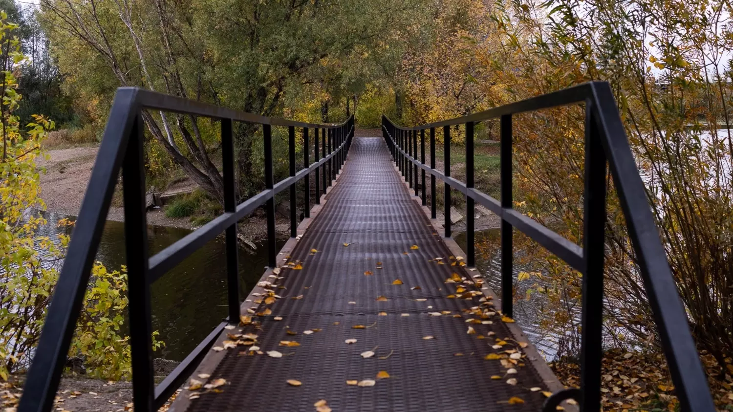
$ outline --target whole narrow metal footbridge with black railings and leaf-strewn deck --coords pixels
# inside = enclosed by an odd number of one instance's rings
[[[512,209],[512,114],[574,103],[586,109],[582,247]],[[224,213],[150,258],[144,109],[218,119],[224,152]],[[501,124],[501,201],[474,188],[474,125],[492,118]],[[262,125],[265,190],[250,199],[236,196],[233,122]],[[443,141],[445,172],[435,169],[435,130],[449,136],[455,125],[465,127],[465,182],[449,175],[450,139]],[[278,183],[273,126],[289,131],[290,176]],[[354,130],[353,117],[315,125],[119,89],[18,410],[51,411],[121,169],[135,411],[157,410],[183,386],[174,411],[555,411],[561,405],[597,412],[607,165],[675,394],[683,410],[715,410],[608,84],[583,84],[412,128],[384,117],[382,138],[355,136]],[[301,180],[314,196],[296,191]],[[465,251],[450,238],[449,210],[444,221],[436,219],[436,184],[444,185],[443,205],[451,204],[451,189],[466,198]],[[274,196],[281,191],[290,192],[292,236],[278,250]],[[474,268],[476,203],[502,220],[496,294]],[[235,224],[257,207],[267,211],[269,267],[243,298]],[[300,223],[298,207],[305,215]],[[580,388],[562,386],[514,323],[514,229],[584,275]],[[229,317],[155,385],[150,284],[222,232]]]

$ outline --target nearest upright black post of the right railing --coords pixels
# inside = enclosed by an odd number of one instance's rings
[[[603,357],[603,257],[605,254],[605,153],[592,103],[586,103],[585,205],[583,207],[583,314],[581,317],[582,411],[601,408],[601,358]]]

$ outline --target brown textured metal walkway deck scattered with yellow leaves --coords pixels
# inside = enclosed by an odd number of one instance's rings
[[[253,325],[229,331],[257,334],[261,352],[240,345],[217,353],[221,361],[210,380],[227,383],[186,399],[188,411],[314,411],[318,400],[327,402],[320,411],[339,412],[539,411],[547,381],[491,300],[460,297],[458,288],[465,288],[464,297],[482,292],[471,282],[478,272],[452,266],[449,255],[382,139],[356,138],[339,183],[292,251],[290,261],[301,261],[302,269],[283,268],[282,279],[269,278],[281,298],[262,302],[257,312],[271,314],[253,315]],[[446,283],[452,273],[463,282]],[[397,279],[402,284],[393,284]],[[272,350],[282,357],[268,356]],[[507,350],[522,354],[516,365],[508,364],[515,360]],[[374,356],[364,358],[367,351]],[[485,359],[491,353],[504,360]],[[380,371],[389,377],[377,379]],[[507,383],[512,378],[515,385]],[[509,402],[512,397],[523,403]]]

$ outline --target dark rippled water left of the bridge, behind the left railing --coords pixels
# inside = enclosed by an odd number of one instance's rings
[[[48,224],[39,229],[39,235],[56,238],[60,230],[57,222],[67,216],[44,214]],[[148,226],[150,254],[158,253],[190,232],[176,227]],[[156,357],[182,361],[226,317],[224,246],[221,236],[211,240],[152,284],[152,329],[160,331],[160,339],[166,342],[162,352],[155,353]],[[240,296],[246,296],[262,276],[267,265],[266,248],[265,244],[257,245],[255,254],[240,251]],[[106,222],[97,260],[108,270],[119,270],[125,264],[122,222]]]

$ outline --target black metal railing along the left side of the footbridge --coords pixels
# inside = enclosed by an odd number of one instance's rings
[[[145,176],[143,158],[143,119],[141,111],[151,108],[210,117],[221,121],[223,155],[224,213],[204,226],[186,235],[168,248],[148,259],[145,218]],[[265,152],[265,190],[236,204],[234,141],[232,123],[247,122],[262,125]],[[310,213],[310,174],[315,174],[316,203],[325,194],[327,186],[336,177],[346,161],[353,140],[354,118],[340,125],[316,125],[285,119],[262,117],[243,111],[186,100],[134,87],[117,89],[109,114],[97,161],[86,188],[84,201],[73,231],[64,266],[59,275],[51,306],[43,325],[36,353],[27,375],[23,397],[18,411],[51,411],[59,379],[65,367],[71,338],[78,320],[84,293],[89,282],[92,263],[102,229],[122,168],[122,188],[125,206],[125,247],[128,264],[128,306],[130,350],[132,353],[133,402],[136,412],[156,411],[191,375],[227,323],[240,320],[236,223],[265,205],[268,225],[268,262],[276,266],[275,202],[274,197],[290,188],[290,235],[295,237],[297,227],[295,185],[305,180],[303,208],[305,217]],[[272,126],[288,128],[290,144],[290,177],[273,181]],[[296,172],[295,128],[303,129],[303,169]],[[314,129],[314,163],[309,159],[311,148],[309,129]],[[319,159],[318,132],[322,147]],[[328,136],[328,139],[327,139]],[[327,149],[328,142],[328,149]],[[320,185],[320,177],[323,176]],[[150,284],[166,271],[182,262],[185,257],[226,232],[226,272],[228,313],[224,322],[201,342],[160,383],[153,382],[152,341],[150,320]]]

